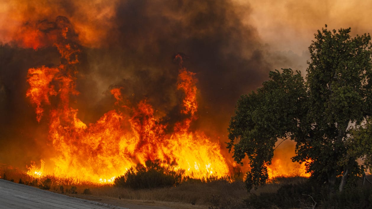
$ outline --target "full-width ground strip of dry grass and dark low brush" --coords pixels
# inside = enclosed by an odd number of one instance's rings
[[[128,186],[91,183],[51,175],[29,176],[19,169],[6,166],[0,168],[0,173],[1,179],[83,199],[102,200],[102,202],[115,200],[122,206],[125,205],[124,200],[141,200],[149,203],[174,202],[211,209],[312,208],[315,203],[318,208],[368,208],[372,203],[372,185],[367,182],[363,185],[362,179],[357,187],[342,193],[331,193],[329,188],[312,184],[305,177],[279,176],[247,193],[243,179],[229,176],[203,179],[184,177],[179,184],[172,186],[134,189]],[[149,174],[153,175],[151,172]],[[369,175],[368,179],[372,179],[372,176]],[[113,202],[108,203],[113,204]]]

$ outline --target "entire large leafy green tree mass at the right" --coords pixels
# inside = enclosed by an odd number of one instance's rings
[[[331,188],[339,181],[342,190],[349,176],[365,169],[349,149],[355,145],[350,130],[371,115],[371,37],[349,33],[350,28],[318,30],[306,82],[291,69],[270,72],[257,93],[238,100],[227,148],[238,163],[248,156],[247,189],[266,181],[278,138],[297,142],[292,160],[305,163],[313,180]]]

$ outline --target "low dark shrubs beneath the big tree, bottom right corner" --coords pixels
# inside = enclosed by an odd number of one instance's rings
[[[250,194],[244,200],[248,208],[368,208],[372,205],[371,186],[346,188],[343,192],[332,191],[312,181],[284,184],[276,193]]]

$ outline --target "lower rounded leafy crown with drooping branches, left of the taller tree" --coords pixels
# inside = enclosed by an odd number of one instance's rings
[[[228,128],[227,148],[234,148],[234,160],[247,155],[250,171],[246,186],[251,189],[267,180],[267,165],[271,164],[274,145],[278,138],[291,138],[298,131],[298,121],[304,115],[306,89],[299,71],[272,71],[263,87],[242,95]]]

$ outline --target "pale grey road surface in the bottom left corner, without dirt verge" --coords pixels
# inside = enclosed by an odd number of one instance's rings
[[[105,203],[69,197],[0,179],[0,209],[125,209]]]

